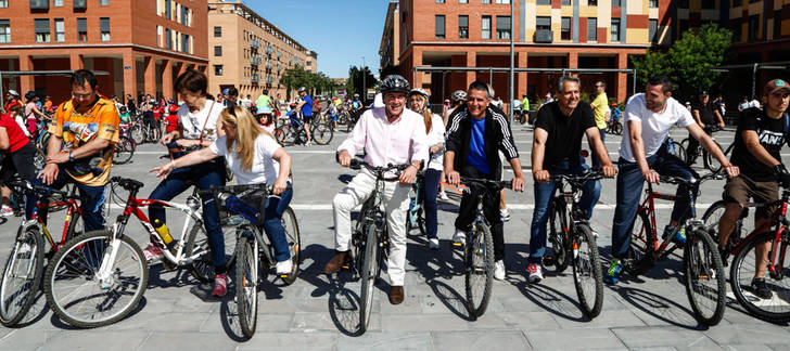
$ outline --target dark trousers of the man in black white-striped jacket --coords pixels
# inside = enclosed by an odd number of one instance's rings
[[[474,178],[487,178],[483,174],[463,174]],[[494,180],[494,179],[492,179]],[[477,196],[481,192],[487,192],[483,195],[483,214],[490,225],[490,233],[494,236],[494,258],[499,261],[505,259],[505,237],[502,234],[502,218],[499,213],[500,192],[489,192],[483,187],[470,187],[470,193],[463,193],[461,206],[458,209],[458,218],[456,218],[456,229],[469,232],[472,221],[477,217]]]

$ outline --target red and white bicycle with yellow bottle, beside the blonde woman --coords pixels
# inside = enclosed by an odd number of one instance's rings
[[[140,199],[137,194],[143,183],[120,177],[113,177],[111,182],[129,192],[123,213],[111,229],[68,240],[52,258],[44,276],[44,294],[52,312],[76,327],[94,328],[120,321],[135,310],[145,291],[149,265],[157,262],[145,261],[140,246],[124,234],[131,216],[145,227],[152,244],[161,248],[163,264],[187,266],[192,276],[204,283],[214,278],[196,197],[188,198],[186,205]],[[180,236],[174,235],[173,251],[140,210],[151,205],[175,208],[186,214]]]

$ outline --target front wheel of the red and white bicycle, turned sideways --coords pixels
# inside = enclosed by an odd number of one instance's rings
[[[140,299],[145,292],[149,280],[149,269],[144,260],[144,255],[140,247],[129,236],[122,236],[117,239],[117,243],[126,250],[126,252],[118,251],[115,259],[116,262],[128,262],[133,269],[137,266],[140,271],[140,277],[138,282],[130,281],[128,278],[116,278],[111,281],[115,283],[116,287],[123,288],[120,291],[111,292],[111,288],[100,287],[100,283],[95,282],[94,275],[99,266],[101,265],[100,256],[104,255],[99,252],[97,247],[103,246],[106,248],[106,239],[111,236],[109,231],[93,231],[85,233],[69,240],[66,246],[55,253],[47,268],[47,276],[44,280],[44,294],[47,296],[47,302],[49,303],[52,312],[61,318],[61,321],[80,328],[95,328],[113,324],[117,321],[126,317],[131,311],[137,308]],[[85,255],[85,250],[90,250],[90,244],[93,244],[94,249],[93,260],[88,259],[89,255]],[[122,247],[118,249],[120,250]],[[81,261],[81,262],[80,262]],[[91,262],[92,261],[92,262]],[[112,270],[114,274],[123,274],[120,265],[114,265]],[[66,280],[72,277],[72,283],[65,283]],[[77,282],[78,284],[74,284]],[[123,286],[118,284],[123,282]],[[61,288],[55,287],[60,283],[65,283],[66,286],[62,287],[65,296],[61,296]],[[75,285],[77,288],[75,288]],[[77,291],[81,287],[93,287],[98,292],[91,292],[90,295],[77,297]],[[119,297],[128,296],[124,294],[129,289],[130,286],[136,286],[137,290],[131,294],[128,302],[125,303],[117,312],[111,313],[105,317],[98,317],[103,315],[106,310],[106,301],[109,297],[112,297],[114,301],[117,301]],[[63,301],[63,299],[69,298],[71,301]],[[102,299],[102,303],[98,304],[93,299]],[[113,303],[114,304],[114,303]],[[88,308],[93,308],[94,311],[87,312],[86,317],[76,316],[72,311],[80,312]],[[97,310],[99,308],[100,310]]]

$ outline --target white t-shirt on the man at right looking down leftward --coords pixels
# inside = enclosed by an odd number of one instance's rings
[[[666,108],[662,114],[648,109],[645,105],[645,93],[638,93],[628,100],[623,116],[623,141],[620,143],[620,157],[629,162],[636,161],[630,151],[629,120],[641,121],[646,157],[654,155],[661,148],[672,126],[678,125],[686,128],[695,123],[691,113],[673,98],[666,100]]]

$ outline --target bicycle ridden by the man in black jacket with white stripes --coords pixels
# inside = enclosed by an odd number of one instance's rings
[[[494,236],[490,225],[485,219],[483,209],[484,196],[498,193],[510,187],[512,181],[492,181],[482,178],[461,177],[466,185],[466,194],[477,194],[477,214],[472,221],[466,243],[463,244],[463,271],[467,295],[467,310],[472,318],[485,313],[494,284]],[[482,191],[481,191],[482,190]]]

